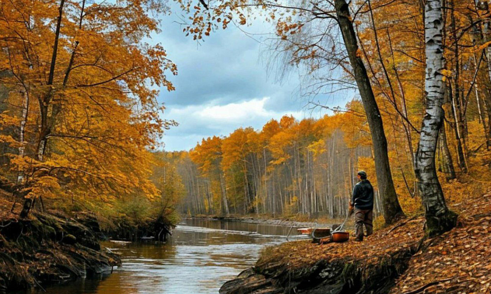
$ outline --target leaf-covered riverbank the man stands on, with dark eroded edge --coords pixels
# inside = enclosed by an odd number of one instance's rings
[[[294,241],[267,248],[219,293],[491,293],[491,193],[451,209],[459,213],[457,228],[432,239],[419,216],[361,243]]]

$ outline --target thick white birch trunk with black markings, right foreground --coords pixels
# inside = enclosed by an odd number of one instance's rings
[[[441,74],[444,68],[441,0],[427,0],[425,9],[427,105],[414,166],[421,200],[425,207],[427,231],[430,236],[435,236],[455,227],[457,214],[449,210],[445,204],[435,168],[438,133],[444,117],[441,105],[445,92]]]

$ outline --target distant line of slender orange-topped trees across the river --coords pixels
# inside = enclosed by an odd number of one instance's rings
[[[261,131],[240,128],[203,139],[175,155],[187,189],[183,213],[346,215],[359,162],[373,169],[363,120],[354,113],[301,121],[283,116]]]

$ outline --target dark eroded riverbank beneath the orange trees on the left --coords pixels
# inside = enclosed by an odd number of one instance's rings
[[[97,219],[79,213],[32,211],[19,218],[12,203],[0,199],[0,291],[44,288],[103,273],[121,264],[102,248]]]

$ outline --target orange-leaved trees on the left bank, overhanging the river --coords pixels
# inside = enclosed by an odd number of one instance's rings
[[[173,121],[158,88],[177,69],[160,44],[153,1],[0,2],[1,183],[56,205],[107,209],[161,191],[150,175]],[[151,13],[149,13],[151,12]],[[152,16],[153,15],[153,16]]]

